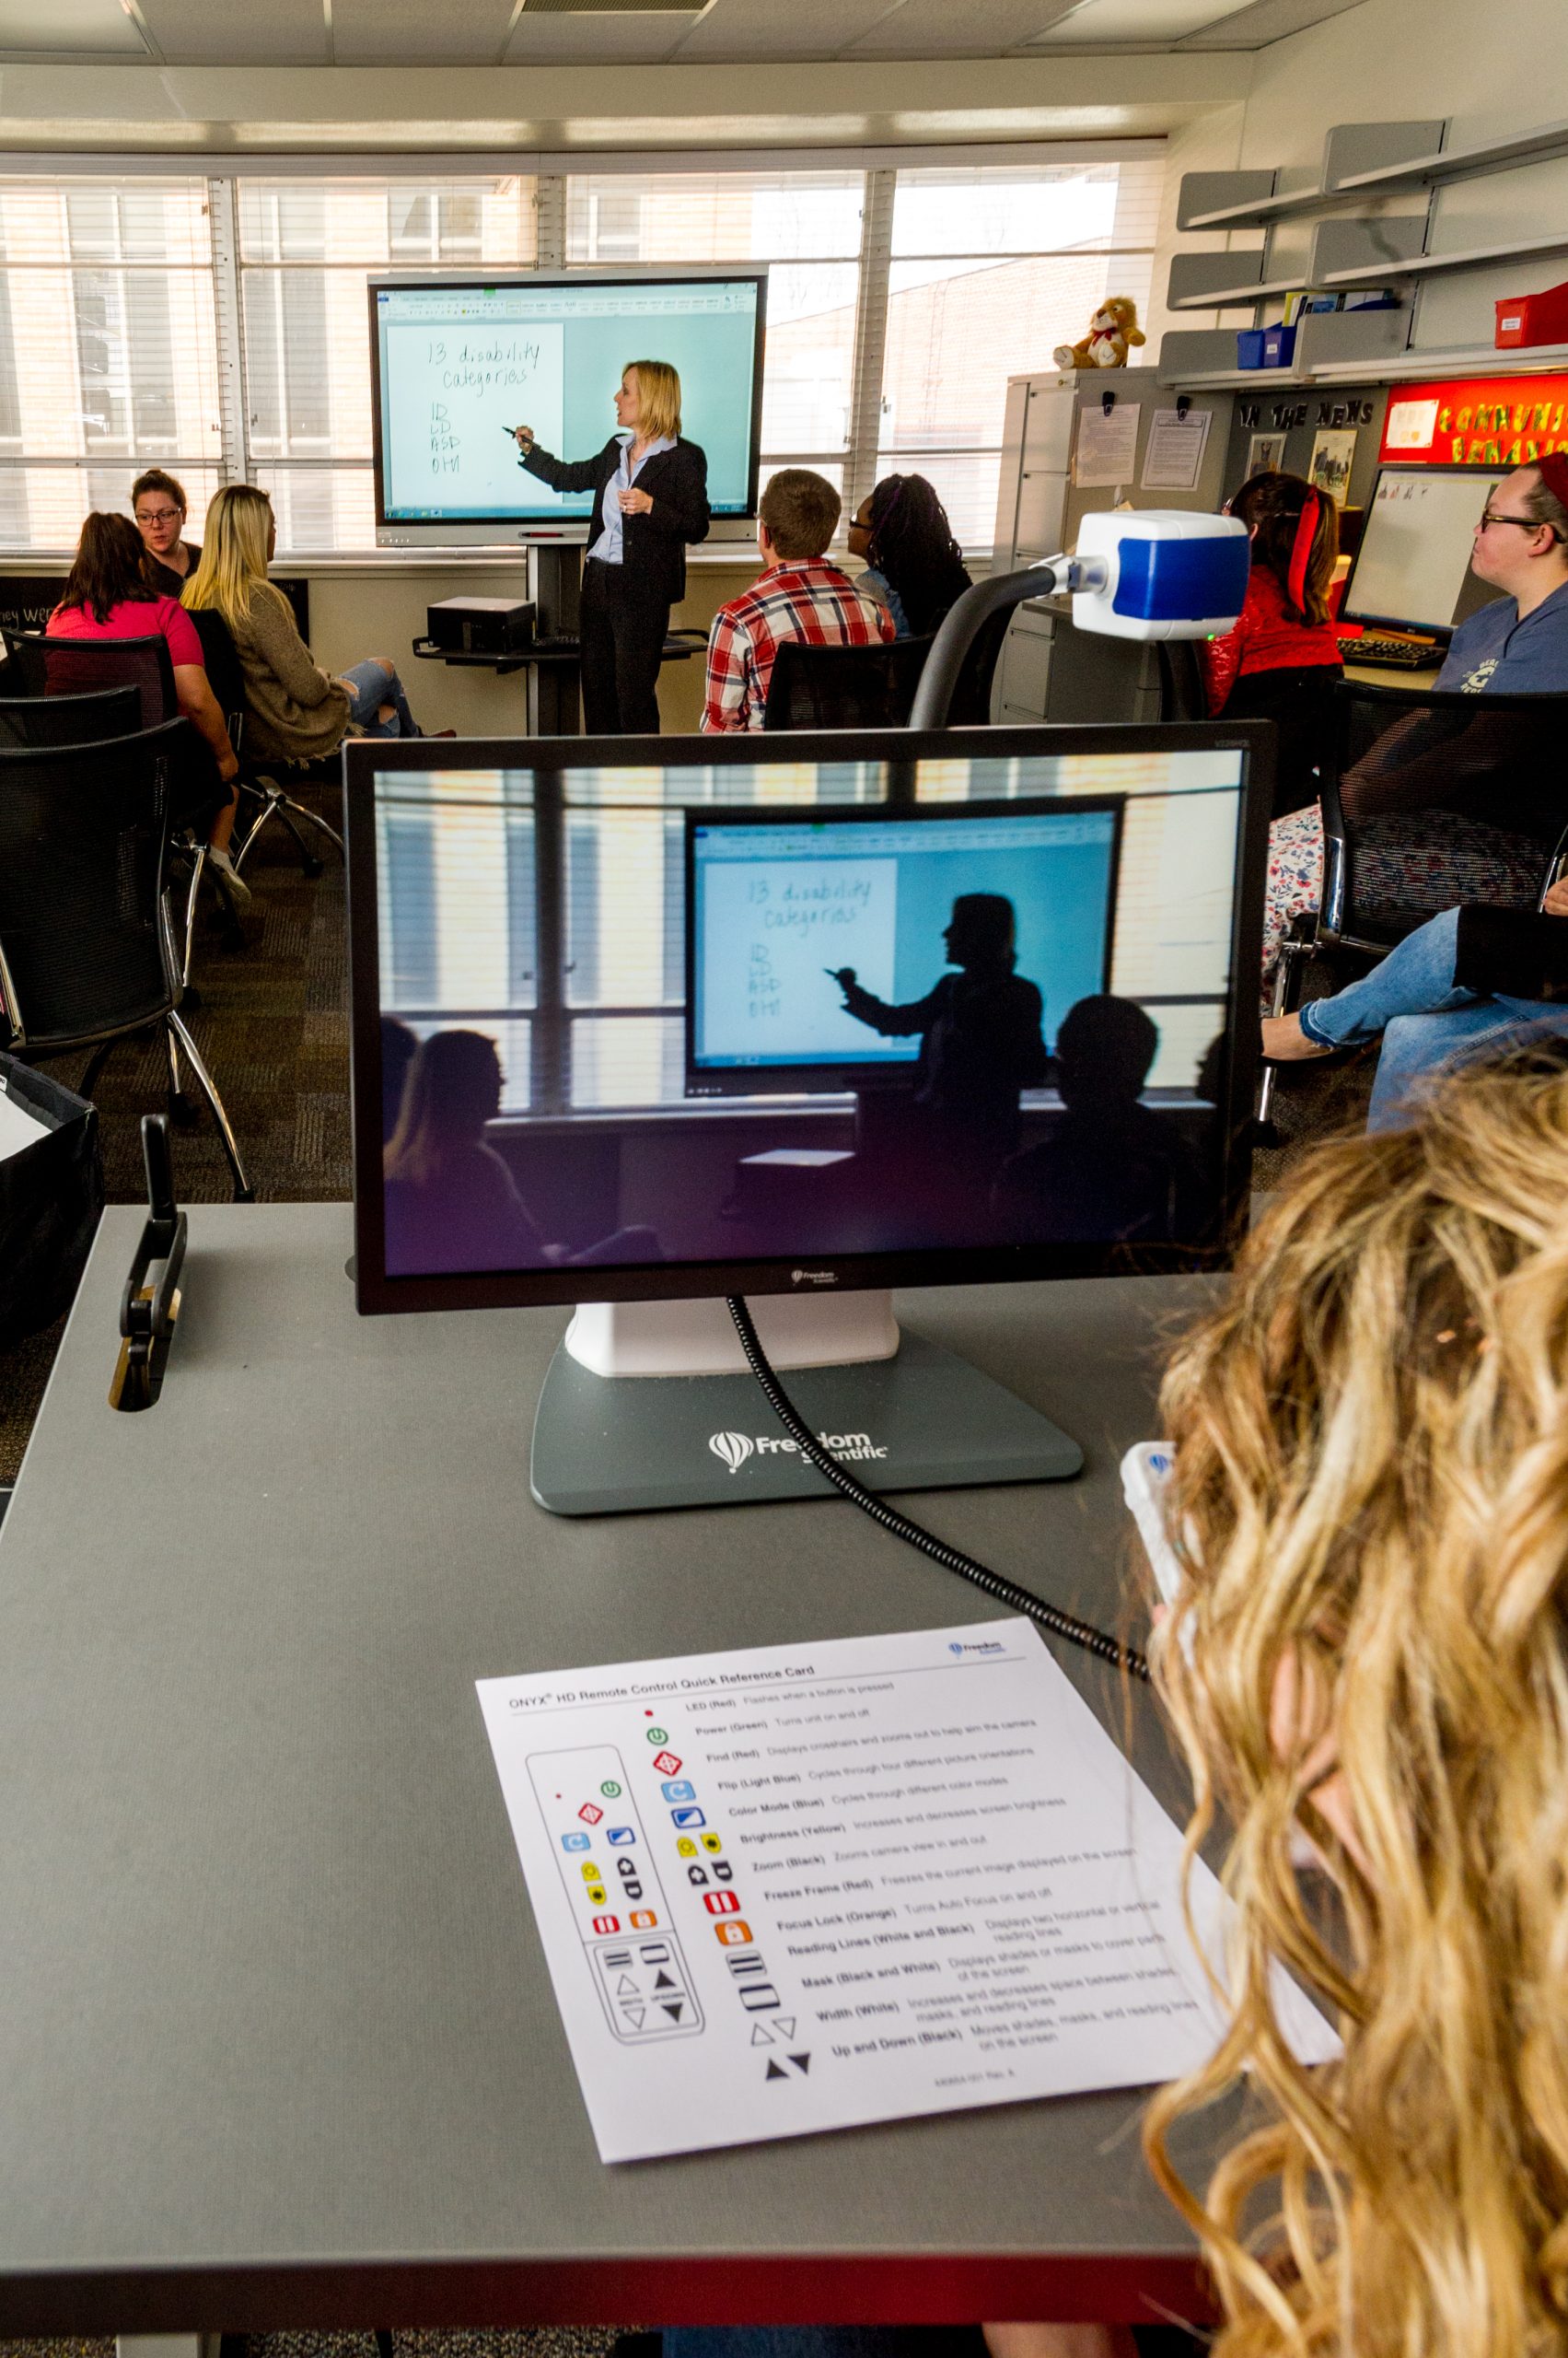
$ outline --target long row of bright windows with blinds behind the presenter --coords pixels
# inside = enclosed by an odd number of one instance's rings
[[[1106,295],[1146,304],[1162,174],[1158,141],[1014,153],[566,172],[552,217],[566,269],[766,262],[762,481],[809,465],[849,498],[929,474],[983,552],[1004,382],[1075,342]],[[868,229],[889,203],[891,241]],[[0,177],[0,549],[71,549],[85,509],[125,507],[146,465],[184,481],[193,538],[238,465],[271,493],[285,556],[375,547],[365,281],[531,269],[538,219],[526,172]]]

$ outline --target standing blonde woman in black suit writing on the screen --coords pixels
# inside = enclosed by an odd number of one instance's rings
[[[707,460],[681,441],[681,380],[630,361],[615,427],[597,457],[566,465],[516,427],[521,465],[552,490],[592,490],[582,571],[582,729],[658,736],[658,667],[670,608],[686,597],[686,542],[707,540]]]

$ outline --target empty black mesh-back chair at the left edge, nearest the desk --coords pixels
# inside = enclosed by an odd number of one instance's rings
[[[229,1158],[233,1200],[252,1203],[224,1101],[179,1016],[167,795],[182,729],[163,722],[101,745],[0,745],[0,1002],[9,1052],[24,1061],[92,1049],[83,1096],[120,1040],[158,1028],[170,1111],[189,1104],[184,1049]]]

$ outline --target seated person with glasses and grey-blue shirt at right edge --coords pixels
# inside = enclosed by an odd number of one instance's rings
[[[1507,594],[1452,634],[1438,689],[1467,696],[1568,693],[1568,455],[1516,467],[1476,523],[1471,571]],[[1356,898],[1368,908],[1526,901],[1542,849],[1568,818],[1556,776],[1516,717],[1452,726],[1415,712],[1339,785],[1356,825]],[[1323,818],[1292,811],[1269,830],[1264,974],[1290,920],[1318,905]]]

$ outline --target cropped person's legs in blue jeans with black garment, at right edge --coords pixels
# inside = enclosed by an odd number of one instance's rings
[[[1264,1019],[1264,1056],[1299,1063],[1382,1035],[1368,1129],[1412,1120],[1412,1099],[1471,1056],[1568,1035],[1568,877],[1544,908],[1448,908],[1389,950],[1370,974]],[[1511,988],[1509,988],[1511,986]]]

